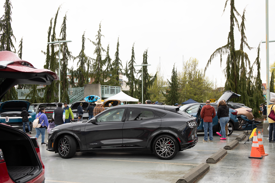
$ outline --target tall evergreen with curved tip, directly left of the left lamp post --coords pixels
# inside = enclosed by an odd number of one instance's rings
[[[58,7],[57,9],[57,13],[55,14],[55,19],[53,22],[53,27],[52,27],[52,20],[53,18],[50,20],[50,27],[48,29],[48,42],[53,42],[56,41],[56,33],[55,33],[55,28],[56,28],[56,22],[57,22],[57,16],[58,16],[58,12],[60,10],[61,6]],[[51,30],[53,29],[53,34],[51,34]],[[50,40],[51,38],[51,40]],[[46,64],[44,65],[45,69],[49,69],[55,73],[58,73],[58,68],[59,68],[59,64],[58,64],[58,59],[57,59],[57,54],[58,51],[55,51],[55,45],[51,44],[47,45],[47,52],[42,52],[46,55]],[[59,78],[60,79],[60,78]],[[50,85],[46,85],[45,88],[43,88],[44,90],[44,97],[43,97],[43,102],[57,102],[58,101],[58,82],[60,81],[53,81],[52,84]]]

